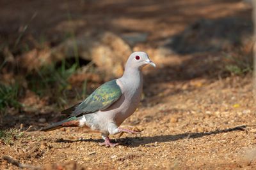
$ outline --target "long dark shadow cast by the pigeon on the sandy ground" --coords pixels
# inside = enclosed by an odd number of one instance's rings
[[[167,135],[161,135],[161,136],[136,136],[136,137],[127,137],[127,138],[120,138],[116,139],[116,143],[120,143],[120,145],[128,146],[128,147],[138,147],[140,145],[148,145],[150,143],[164,143],[164,142],[170,142],[170,141],[178,141],[181,139],[195,139],[195,138],[202,138],[204,136],[209,136],[212,134],[221,134],[225,132],[233,132],[233,131],[246,131],[246,125],[241,125],[233,128],[228,129],[221,129],[211,132],[189,132],[189,133],[183,133],[183,134],[167,134]],[[58,143],[75,143],[75,142],[95,142],[99,143],[102,142],[102,139],[76,139],[76,140],[70,140],[70,139],[57,139],[56,142]]]

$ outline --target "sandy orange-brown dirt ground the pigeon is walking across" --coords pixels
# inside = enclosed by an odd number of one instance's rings
[[[14,145],[0,143],[1,155],[46,169],[256,169],[252,75],[227,76],[220,68],[223,51],[234,50],[237,39],[252,35],[250,5],[233,0],[106,0],[1,1],[0,6],[2,35],[15,37],[17,25],[36,12],[29,34],[44,34],[54,43],[72,27],[76,34],[83,29],[147,32],[147,41],[134,50],[172,50],[164,57],[150,56],[157,67],[145,70],[143,100],[122,124],[140,135],[111,136],[120,145],[106,148],[99,146],[100,134],[87,129],[32,131]],[[9,43],[12,36],[6,38]],[[5,118],[4,125],[40,129],[48,124],[38,122],[42,117],[50,123],[60,113],[23,113],[12,121]],[[0,169],[18,168],[1,159]]]

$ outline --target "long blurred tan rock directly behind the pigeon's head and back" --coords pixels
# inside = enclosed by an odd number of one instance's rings
[[[18,61],[22,67],[31,71],[45,64],[78,55],[81,59],[92,60],[106,76],[120,76],[131,53],[131,47],[112,32],[101,32],[97,35],[84,33],[67,39],[55,48],[31,50],[18,57]]]

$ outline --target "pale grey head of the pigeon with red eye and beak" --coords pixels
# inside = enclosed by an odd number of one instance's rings
[[[135,68],[142,69],[147,64],[150,64],[151,66],[156,67],[156,64],[149,59],[147,53],[133,52],[130,55],[129,59],[127,60],[125,67],[135,67]]]

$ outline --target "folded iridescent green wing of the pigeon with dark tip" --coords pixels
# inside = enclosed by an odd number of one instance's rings
[[[117,85],[116,80],[108,81],[96,89],[83,102],[76,104],[72,108],[61,111],[61,113],[71,113],[70,117],[77,117],[79,115],[104,110],[115,103],[120,96],[122,96],[122,90]]]

